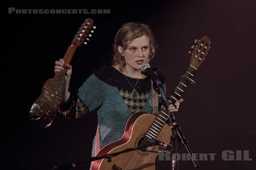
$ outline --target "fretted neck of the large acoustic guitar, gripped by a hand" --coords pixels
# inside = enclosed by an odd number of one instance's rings
[[[192,79],[195,74],[195,71],[197,71],[197,68],[195,68],[192,65],[189,65],[189,68],[187,69],[186,73],[182,76],[179,84],[176,86],[175,90],[172,92],[172,95],[167,102],[168,105],[171,105],[172,103],[175,103],[176,100],[180,99],[182,93],[185,91],[186,87],[189,84],[195,83]],[[156,139],[158,133],[162,130],[165,122],[168,119],[169,119],[169,115],[166,111],[166,108],[163,107],[158,113],[158,116],[155,119],[153,125],[151,125],[151,128],[148,130],[148,133],[146,134],[146,136],[150,139]]]

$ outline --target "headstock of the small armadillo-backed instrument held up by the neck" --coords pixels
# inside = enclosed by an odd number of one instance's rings
[[[80,46],[82,43],[84,43],[86,45],[87,41],[89,41],[89,37],[92,37],[92,34],[90,33],[94,32],[92,28],[96,28],[96,26],[93,26],[93,20],[90,18],[84,20],[84,23],[81,25],[73,39],[73,44]]]

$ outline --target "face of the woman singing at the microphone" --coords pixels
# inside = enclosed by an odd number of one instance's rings
[[[125,57],[125,68],[127,70],[140,70],[141,65],[149,61],[150,50],[148,36],[143,35],[142,37],[136,38],[124,51],[119,46],[119,52]]]

